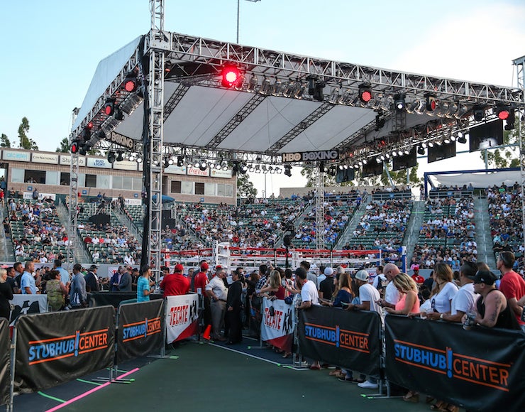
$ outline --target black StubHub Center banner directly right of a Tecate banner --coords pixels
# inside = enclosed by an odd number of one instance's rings
[[[380,325],[377,312],[314,305],[299,310],[300,350],[306,357],[378,376]]]

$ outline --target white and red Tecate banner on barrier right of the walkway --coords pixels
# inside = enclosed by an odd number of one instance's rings
[[[292,352],[295,326],[294,310],[294,306],[287,305],[284,300],[264,298],[262,300],[262,322],[260,325],[261,340],[286,352]]]

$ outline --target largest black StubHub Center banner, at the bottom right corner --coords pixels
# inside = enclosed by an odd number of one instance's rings
[[[523,411],[525,335],[388,315],[387,378],[471,411]]]

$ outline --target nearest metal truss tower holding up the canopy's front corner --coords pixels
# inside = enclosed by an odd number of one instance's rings
[[[148,131],[143,136],[145,170],[145,201],[148,202],[147,250],[155,284],[158,285],[161,266],[162,229],[162,144],[164,138],[164,69],[165,51],[170,50],[170,37],[164,32],[164,0],[150,0],[151,30],[146,36],[145,55],[149,60],[147,99],[145,115],[148,116]],[[146,73],[143,73],[146,75]],[[144,245],[144,243],[143,243]]]

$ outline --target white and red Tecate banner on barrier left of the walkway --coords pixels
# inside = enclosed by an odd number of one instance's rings
[[[198,295],[167,296],[166,342],[186,339],[199,332]]]

